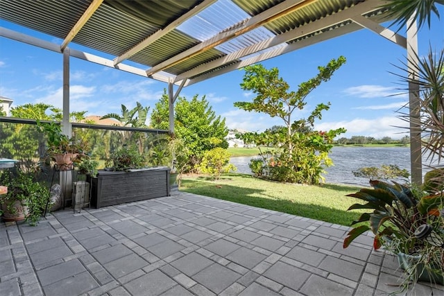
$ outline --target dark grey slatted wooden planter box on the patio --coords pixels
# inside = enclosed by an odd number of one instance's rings
[[[113,204],[135,202],[169,196],[167,166],[144,168],[130,172],[103,171],[92,180],[91,206],[99,209]]]

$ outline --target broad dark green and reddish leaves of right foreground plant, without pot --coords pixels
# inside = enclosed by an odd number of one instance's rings
[[[407,185],[388,184],[377,180],[370,180],[373,188],[364,188],[357,193],[347,196],[364,200],[364,204],[352,204],[348,210],[369,209],[352,222],[355,225],[343,241],[346,248],[361,234],[371,230],[375,234],[373,247],[379,249],[384,241],[397,238],[402,242],[399,252],[415,253],[418,248],[426,244],[415,238],[414,232],[420,225],[429,224],[436,228],[436,232],[444,238],[444,218],[440,216],[443,208],[443,194],[437,193],[427,196],[413,194]]]

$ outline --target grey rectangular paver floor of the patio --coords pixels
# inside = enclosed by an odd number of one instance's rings
[[[0,295],[386,295],[395,256],[348,227],[176,191],[0,223]],[[388,284],[387,284],[388,283]],[[416,284],[412,295],[444,294]]]

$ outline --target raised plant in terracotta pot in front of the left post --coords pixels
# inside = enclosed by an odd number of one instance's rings
[[[60,124],[42,123],[37,120],[37,129],[46,135],[46,153],[56,162],[60,171],[67,171],[73,168],[74,162],[85,155],[87,144],[75,137],[69,138],[62,133]]]

